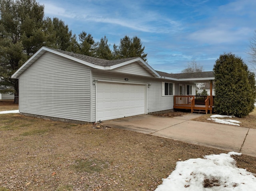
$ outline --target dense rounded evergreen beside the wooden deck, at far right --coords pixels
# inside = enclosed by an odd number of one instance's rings
[[[214,65],[214,110],[218,114],[245,117],[255,101],[254,75],[240,57],[232,53],[220,55]],[[253,88],[254,87],[254,88]]]

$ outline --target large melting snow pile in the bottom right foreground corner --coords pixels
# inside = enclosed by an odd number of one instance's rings
[[[208,155],[204,159],[188,159],[176,163],[176,169],[162,179],[155,191],[255,191],[256,177],[236,167],[231,155]]]

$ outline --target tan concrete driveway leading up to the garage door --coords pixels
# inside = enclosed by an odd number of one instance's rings
[[[191,120],[198,116],[200,114],[174,118],[138,115],[102,124],[256,157],[256,129]]]

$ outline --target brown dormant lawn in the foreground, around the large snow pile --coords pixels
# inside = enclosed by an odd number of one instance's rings
[[[227,152],[116,128],[0,115],[0,191],[154,190],[177,161],[220,153]],[[256,173],[256,158],[234,158]]]

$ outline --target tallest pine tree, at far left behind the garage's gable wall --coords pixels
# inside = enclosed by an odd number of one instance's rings
[[[44,6],[35,0],[0,0],[0,16],[0,85],[14,87],[17,103],[18,79],[11,75],[47,40]]]

